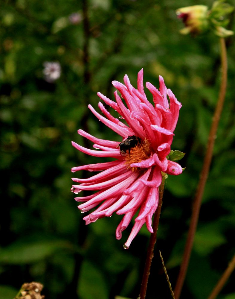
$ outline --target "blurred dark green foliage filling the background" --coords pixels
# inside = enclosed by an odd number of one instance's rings
[[[178,33],[183,24],[175,10],[195,4],[1,1],[0,299],[32,280],[44,284],[50,299],[137,298],[149,233],[143,227],[125,251],[131,228],[115,239],[120,216],[86,227],[70,187],[71,177],[87,174],[70,169],[102,162],[71,146],[74,140],[91,148],[77,129],[121,141],[87,105],[97,108],[98,91],[113,99],[111,81],[123,82],[125,74],[136,87],[142,67],[144,82],[158,87],[162,75],[182,103],[172,148],[186,153],[186,170],[167,181],[147,291],[148,299],[170,298],[158,250],[174,286],[219,90],[219,39]],[[235,29],[233,19],[229,26]],[[207,298],[235,250],[234,37],[227,47],[228,92],[181,298]],[[46,61],[61,66],[54,82],[43,75]],[[235,298],[234,279],[235,273],[219,299]]]

